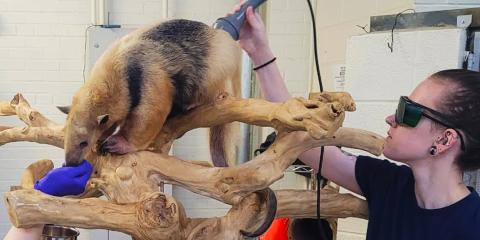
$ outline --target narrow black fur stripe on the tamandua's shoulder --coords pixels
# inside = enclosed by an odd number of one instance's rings
[[[143,69],[137,59],[130,58],[127,63],[127,83],[130,93],[130,112],[140,104],[142,96]]]

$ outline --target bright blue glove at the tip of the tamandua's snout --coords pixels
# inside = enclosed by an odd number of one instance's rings
[[[78,195],[85,191],[93,167],[86,160],[75,167],[61,167],[48,172],[35,183],[35,189],[53,196]]]

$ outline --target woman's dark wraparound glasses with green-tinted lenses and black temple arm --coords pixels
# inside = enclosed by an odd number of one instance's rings
[[[431,108],[425,107],[419,103],[416,103],[410,100],[406,96],[401,96],[400,100],[398,101],[397,111],[395,112],[395,122],[402,126],[407,127],[416,127],[417,124],[422,119],[422,116],[439,123],[447,128],[451,128],[457,132],[458,136],[460,137],[460,147],[462,151],[465,151],[465,143],[463,142],[463,137],[460,131],[456,127],[453,127],[453,124],[448,123],[446,120],[440,119],[447,119],[447,117],[437,112]]]

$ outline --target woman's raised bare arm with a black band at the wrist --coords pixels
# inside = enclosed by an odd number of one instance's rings
[[[241,5],[235,7],[235,11]],[[268,45],[265,26],[252,7],[247,9],[246,21],[240,30],[240,46],[247,52],[255,66],[273,59],[274,54]],[[284,102],[291,98],[276,62],[255,71],[260,82],[263,97],[271,102]],[[320,148],[311,149],[299,156],[306,165],[318,171]],[[339,148],[326,146],[322,166],[322,176],[350,191],[361,194],[355,178],[356,157],[343,153]]]

